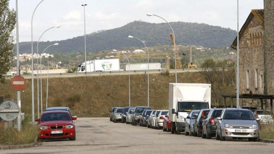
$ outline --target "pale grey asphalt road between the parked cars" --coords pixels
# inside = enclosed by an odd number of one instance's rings
[[[274,151],[274,143],[202,139],[113,123],[109,118],[78,118],[75,124],[76,141],[49,141],[38,147],[0,150],[0,153],[270,154]]]

